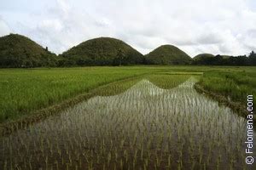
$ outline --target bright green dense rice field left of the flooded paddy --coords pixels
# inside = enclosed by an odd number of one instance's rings
[[[108,82],[148,72],[140,67],[1,70],[0,121],[26,116]]]

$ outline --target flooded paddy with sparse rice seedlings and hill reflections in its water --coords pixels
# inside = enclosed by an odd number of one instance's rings
[[[1,137],[0,169],[253,169],[247,120],[198,94],[199,77],[155,74],[102,88]]]

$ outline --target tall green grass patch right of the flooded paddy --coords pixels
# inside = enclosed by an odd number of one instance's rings
[[[242,71],[205,72],[199,84],[210,92],[221,94],[232,101],[247,105],[247,95],[256,101],[256,69],[249,67]]]

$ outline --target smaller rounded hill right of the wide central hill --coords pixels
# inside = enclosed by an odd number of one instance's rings
[[[172,45],[162,45],[145,56],[148,64],[187,65],[192,62],[188,54]]]

